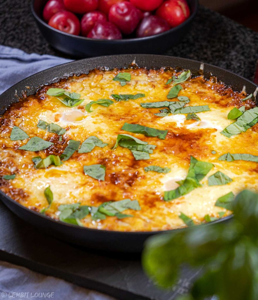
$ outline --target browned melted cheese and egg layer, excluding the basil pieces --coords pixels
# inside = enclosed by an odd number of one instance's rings
[[[11,105],[1,118],[0,137],[0,175],[16,174],[14,180],[0,179],[0,188],[22,205],[36,210],[48,206],[44,189],[50,185],[53,191],[53,203],[46,214],[58,219],[60,204],[80,202],[82,205],[98,206],[105,201],[137,199],[141,211],[125,211],[134,217],[118,220],[107,217],[106,220],[92,221],[87,216],[81,222],[84,226],[96,229],[117,231],[155,231],[175,229],[185,226],[178,217],[180,212],[193,218],[196,223],[204,221],[204,216],[218,217],[224,208],[214,206],[220,196],[232,191],[237,194],[243,189],[258,191],[258,164],[245,161],[218,161],[220,155],[231,153],[250,153],[258,155],[258,134],[250,128],[244,133],[230,139],[220,134],[232,120],[227,114],[232,107],[244,105],[242,93],[218,83],[215,78],[206,81],[202,76],[188,79],[181,83],[183,89],[179,96],[190,98],[190,106],[208,105],[210,111],[198,113],[201,121],[186,120],[185,115],[168,115],[159,118],[154,115],[159,109],[148,109],[140,106],[143,102],[166,101],[171,85],[165,82],[174,70],[128,69],[132,79],[125,86],[113,81],[119,70],[93,70],[87,75],[62,80],[51,87],[65,88],[77,92],[84,101],[76,107],[63,105],[57,98],[48,96],[49,86],[42,88],[36,95]],[[144,93],[144,98],[121,101],[110,107],[92,106],[92,113],[85,110],[85,105],[98,99],[111,99],[111,94]],[[174,100],[171,100],[174,101]],[[254,103],[245,101],[246,108]],[[47,123],[56,123],[65,128],[62,141],[56,134],[37,127],[39,119]],[[122,131],[124,123],[140,124],[156,129],[168,130],[165,140],[156,137],[145,137]],[[19,126],[30,137],[41,137],[54,143],[40,152],[18,150],[27,143],[11,141],[13,126]],[[112,150],[118,134],[130,134],[149,144],[156,145],[149,160],[136,161],[132,153],[120,146]],[[81,143],[90,136],[96,136],[104,143],[105,148],[95,147],[90,153],[77,152],[61,166],[50,166],[36,170],[32,158],[42,158],[50,154],[60,155],[70,139]],[[211,152],[215,150],[216,154]],[[214,164],[214,168],[201,181],[202,187],[196,188],[187,195],[173,201],[165,202],[165,190],[178,187],[178,181],[185,179],[190,156]],[[84,165],[103,164],[106,167],[105,181],[98,181],[83,173]],[[144,167],[156,165],[169,167],[167,174],[145,172]],[[223,186],[208,186],[208,176],[221,171],[228,175],[232,182]]]

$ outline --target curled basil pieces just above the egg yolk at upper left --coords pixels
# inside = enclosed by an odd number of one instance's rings
[[[80,94],[66,91],[62,88],[49,88],[47,90],[47,95],[56,97],[59,101],[61,101],[68,107],[75,107],[82,103],[84,100],[80,99]]]

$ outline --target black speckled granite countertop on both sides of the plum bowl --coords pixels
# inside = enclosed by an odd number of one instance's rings
[[[0,0],[0,44],[67,57],[46,43],[29,4],[30,0]],[[252,80],[258,58],[258,33],[200,7],[189,34],[164,54],[211,63]]]

